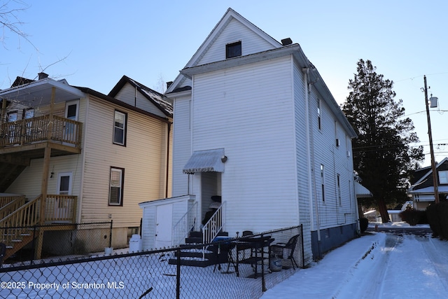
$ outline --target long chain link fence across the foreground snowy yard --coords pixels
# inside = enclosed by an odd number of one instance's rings
[[[290,249],[275,245],[295,235],[290,258]],[[260,298],[303,267],[302,235],[296,226],[211,244],[3,265],[0,298]]]

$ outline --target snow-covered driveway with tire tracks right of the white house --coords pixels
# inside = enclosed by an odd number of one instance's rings
[[[383,223],[370,223],[379,227]],[[407,227],[407,223],[388,223]],[[427,228],[416,225],[415,228]],[[267,290],[270,298],[447,298],[448,242],[372,232]]]

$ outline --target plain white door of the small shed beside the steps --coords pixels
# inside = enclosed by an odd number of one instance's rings
[[[162,204],[155,211],[155,248],[172,246],[173,206]]]

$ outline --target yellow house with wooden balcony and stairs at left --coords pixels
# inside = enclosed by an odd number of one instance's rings
[[[139,202],[171,196],[172,102],[160,93],[123,76],[104,95],[41,73],[0,102],[0,208],[22,207],[0,227],[112,220],[111,245],[123,248]]]

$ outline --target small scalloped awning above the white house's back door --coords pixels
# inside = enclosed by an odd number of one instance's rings
[[[224,172],[224,148],[207,151],[195,151],[187,164],[183,167],[184,174],[195,174],[197,172]]]

